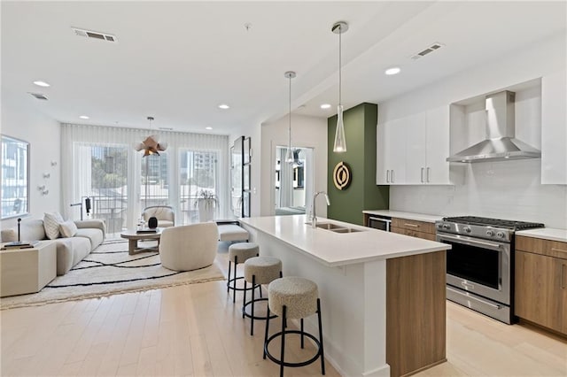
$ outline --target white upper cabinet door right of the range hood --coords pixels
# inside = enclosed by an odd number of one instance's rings
[[[567,184],[565,71],[541,78],[541,183]]]

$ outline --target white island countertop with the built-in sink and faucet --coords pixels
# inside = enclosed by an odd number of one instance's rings
[[[338,266],[364,263],[372,260],[399,258],[447,250],[447,243],[398,235],[382,230],[361,227],[342,221],[318,218],[318,223],[333,223],[361,229],[361,232],[338,234],[306,224],[306,215],[267,216],[239,219],[249,226],[291,245],[323,265]]]

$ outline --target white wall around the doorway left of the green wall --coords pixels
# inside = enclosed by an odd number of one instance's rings
[[[287,116],[274,123],[262,125],[260,158],[261,216],[273,215],[275,212],[274,169],[276,166],[276,146],[285,146],[287,144]],[[315,192],[327,191],[327,119],[292,114],[291,144],[296,147],[314,149]],[[306,202],[306,212],[309,212],[309,198],[306,198]],[[327,216],[327,208],[324,205],[318,207],[317,212],[322,217]]]

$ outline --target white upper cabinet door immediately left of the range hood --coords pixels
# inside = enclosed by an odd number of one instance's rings
[[[423,181],[430,184],[450,184],[449,181],[449,106],[427,112],[427,164]]]

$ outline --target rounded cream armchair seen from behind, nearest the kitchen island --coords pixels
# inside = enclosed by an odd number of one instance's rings
[[[202,222],[167,227],[161,231],[161,265],[174,271],[191,271],[212,265],[218,248],[216,223]]]

